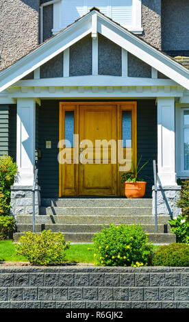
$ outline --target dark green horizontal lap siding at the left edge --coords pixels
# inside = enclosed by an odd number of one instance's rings
[[[0,105],[0,156],[8,154],[9,106]]]

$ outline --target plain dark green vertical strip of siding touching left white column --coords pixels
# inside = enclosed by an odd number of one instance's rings
[[[16,105],[9,108],[9,147],[8,154],[16,162]]]

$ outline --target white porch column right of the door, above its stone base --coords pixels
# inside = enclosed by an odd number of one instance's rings
[[[162,186],[177,186],[174,98],[157,99],[157,168]]]

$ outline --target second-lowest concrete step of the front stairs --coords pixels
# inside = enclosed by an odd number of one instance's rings
[[[105,227],[109,227],[109,225],[105,225]],[[142,225],[142,228],[147,233],[155,233],[155,225]],[[16,225],[16,232],[28,232],[32,231],[32,224],[18,224]],[[81,233],[81,232],[101,232],[103,229],[103,225],[97,224],[36,224],[35,231],[41,232],[42,230],[52,230],[52,232],[66,232],[66,233]],[[166,233],[170,232],[170,225],[157,225],[158,233]]]

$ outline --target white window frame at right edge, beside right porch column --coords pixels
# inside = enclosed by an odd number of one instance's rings
[[[184,111],[189,111],[189,104],[180,106],[176,105],[175,111],[175,141],[176,141],[176,171],[177,177],[186,179],[189,177],[189,170],[184,169],[184,129],[189,125],[184,126]]]

